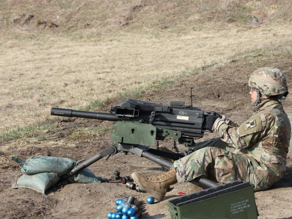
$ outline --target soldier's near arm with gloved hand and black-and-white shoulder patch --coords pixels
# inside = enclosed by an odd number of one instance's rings
[[[275,124],[275,118],[273,116],[266,118],[265,114],[258,113],[251,116],[249,120],[240,124],[238,127],[221,123],[216,131],[222,141],[225,141],[232,147],[241,149],[248,148],[254,142],[264,137],[269,127],[273,127],[273,124]]]

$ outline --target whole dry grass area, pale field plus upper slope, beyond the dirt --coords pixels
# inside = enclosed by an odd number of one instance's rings
[[[156,78],[286,41],[290,5],[1,1],[0,132],[46,121],[51,107],[102,104]]]

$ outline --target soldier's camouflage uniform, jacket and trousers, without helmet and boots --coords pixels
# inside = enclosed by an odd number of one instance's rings
[[[280,102],[264,100],[249,120],[231,125],[223,122],[220,138],[196,143],[201,149],[174,162],[179,183],[204,176],[224,183],[249,181],[258,191],[283,176],[291,126]]]

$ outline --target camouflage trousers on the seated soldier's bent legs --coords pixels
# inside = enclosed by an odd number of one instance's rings
[[[205,177],[222,183],[243,180],[257,187],[255,171],[250,160],[232,153],[235,148],[220,138],[198,142],[196,148],[197,151],[173,163],[178,183]]]

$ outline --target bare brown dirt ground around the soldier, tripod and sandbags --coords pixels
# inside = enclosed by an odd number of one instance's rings
[[[249,102],[247,80],[250,72],[261,66],[276,66],[286,75],[288,86],[291,87],[292,61],[289,53],[273,54],[253,57],[243,57],[230,61],[225,65],[202,69],[196,76],[183,75],[169,87],[162,88],[142,95],[143,100],[154,103],[169,104],[171,100],[184,100],[189,104],[189,87],[193,86],[194,105],[205,111],[217,111],[227,115],[233,121],[243,122],[252,113]],[[114,105],[112,100],[105,107]],[[290,121],[292,120],[292,101],[288,96],[283,103]],[[47,141],[54,141],[53,146],[46,146],[45,141],[32,143],[30,147],[13,153],[3,153],[0,156],[8,158],[11,155],[26,159],[35,155],[51,155],[69,157],[74,160],[89,158],[96,152],[106,148],[109,144],[109,132],[100,136],[69,138],[68,135],[76,127],[96,127],[110,125],[111,122],[102,122],[85,119],[64,119],[59,121],[59,128],[46,133]],[[196,141],[203,141],[216,134],[206,133]],[[25,141],[29,141],[26,139]],[[24,140],[23,140],[24,141]],[[1,142],[0,147],[13,145],[20,140]],[[68,145],[64,147],[61,145]],[[43,145],[42,145],[43,144]],[[59,144],[59,146],[58,146]],[[160,142],[172,148],[172,141]],[[61,146],[60,146],[61,145]],[[69,147],[70,146],[70,147]],[[179,151],[186,148],[179,145]],[[188,182],[172,186],[165,200],[152,205],[146,203],[147,193],[137,193],[127,189],[119,181],[111,180],[108,183],[97,184],[67,184],[60,183],[52,187],[46,195],[30,189],[11,189],[11,180],[15,178],[16,165],[7,161],[0,169],[0,218],[106,218],[106,214],[115,210],[115,200],[125,196],[135,196],[144,202],[141,218],[169,218],[166,203],[170,198],[178,196],[178,192],[186,194],[201,190],[195,183]],[[111,156],[107,161],[103,158],[90,166],[96,176],[110,178],[114,171],[119,170],[122,176],[129,176],[133,171],[149,174],[161,174],[159,165],[135,155],[124,155],[122,152]],[[292,156],[288,155],[286,174],[272,188],[256,192],[255,199],[259,210],[259,218],[287,219],[292,218]],[[206,210],[209,210],[209,207]]]

